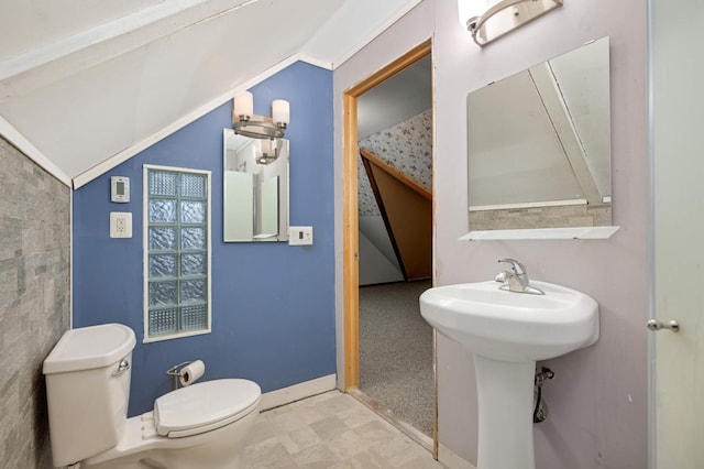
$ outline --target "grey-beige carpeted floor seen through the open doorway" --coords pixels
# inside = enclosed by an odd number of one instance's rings
[[[360,288],[360,391],[432,437],[432,328],[418,297],[430,281]]]

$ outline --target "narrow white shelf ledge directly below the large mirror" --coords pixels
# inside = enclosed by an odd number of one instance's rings
[[[528,239],[608,239],[620,227],[539,228],[522,230],[470,231],[460,241],[509,241]]]

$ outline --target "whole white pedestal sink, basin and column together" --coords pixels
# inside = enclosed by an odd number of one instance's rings
[[[536,361],[598,339],[588,295],[530,282],[544,295],[498,290],[496,282],[439,286],[420,295],[420,314],[474,356],[479,396],[477,469],[534,469]]]

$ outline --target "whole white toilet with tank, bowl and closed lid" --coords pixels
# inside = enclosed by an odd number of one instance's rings
[[[134,345],[132,329],[120,324],[72,329],[44,360],[54,466],[239,467],[260,386],[235,379],[196,383],[127,418]]]

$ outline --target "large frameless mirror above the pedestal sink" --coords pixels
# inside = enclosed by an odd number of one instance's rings
[[[608,37],[466,98],[470,230],[612,225]]]

